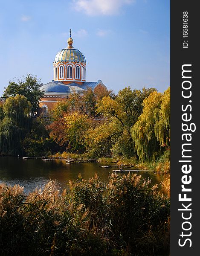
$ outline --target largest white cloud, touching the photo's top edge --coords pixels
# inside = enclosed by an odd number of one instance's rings
[[[121,7],[135,0],[73,0],[73,7],[87,15],[115,15]]]

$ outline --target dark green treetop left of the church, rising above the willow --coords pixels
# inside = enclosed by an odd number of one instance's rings
[[[35,113],[39,107],[39,100],[44,95],[40,87],[40,80],[36,76],[33,77],[31,74],[27,74],[23,81],[20,79],[17,79],[16,82],[10,81],[8,87],[4,90],[3,98],[14,97],[17,94],[23,95],[31,102],[31,112]]]

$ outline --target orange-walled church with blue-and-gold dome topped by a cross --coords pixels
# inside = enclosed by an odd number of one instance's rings
[[[86,82],[86,59],[81,51],[72,46],[71,32],[70,29],[67,48],[61,49],[55,56],[53,62],[54,79],[41,86],[44,96],[39,101],[39,107],[44,108],[45,112],[50,110],[55,102],[67,99],[71,93],[75,92],[82,96],[88,88],[91,88],[94,93],[107,90],[101,80]]]

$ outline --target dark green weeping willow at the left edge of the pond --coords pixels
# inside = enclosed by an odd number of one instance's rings
[[[25,96],[6,99],[0,123],[0,150],[9,155],[22,154],[21,141],[30,128],[31,103]]]

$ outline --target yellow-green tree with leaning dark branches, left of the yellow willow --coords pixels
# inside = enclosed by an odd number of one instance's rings
[[[97,104],[97,113],[107,120],[88,131],[87,150],[93,155],[115,157],[134,155],[130,127],[142,113],[142,102],[155,88],[131,90],[125,87],[116,97],[104,96]]]

